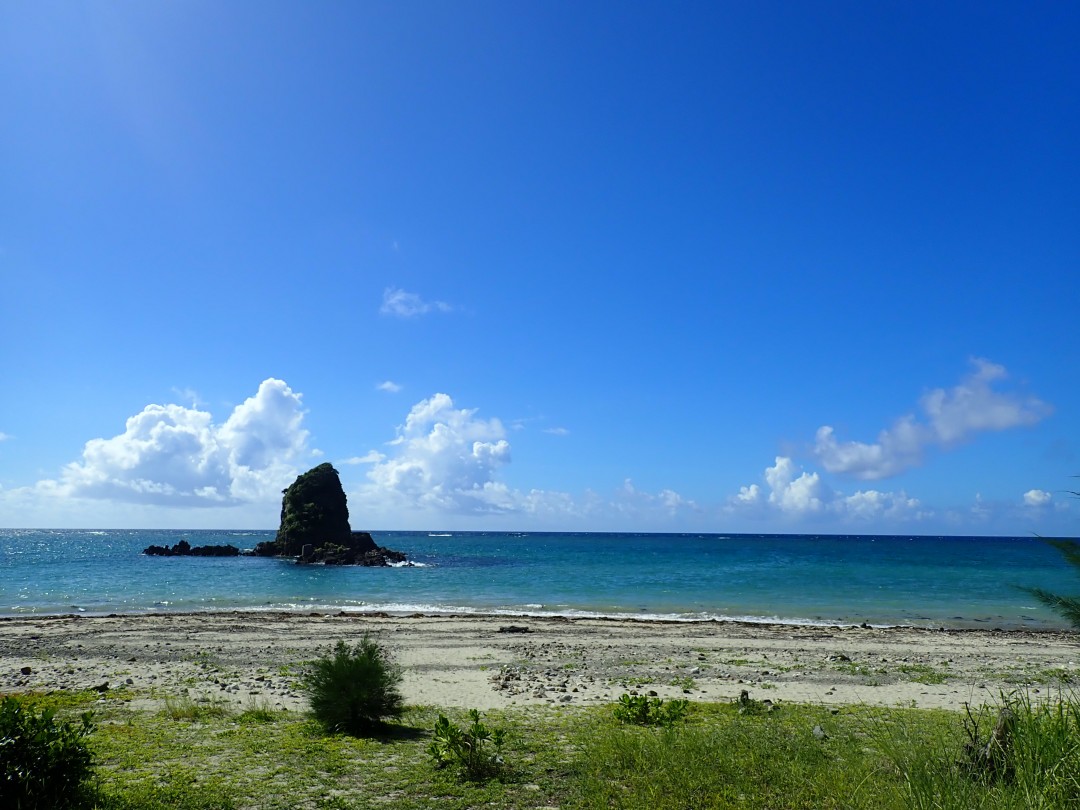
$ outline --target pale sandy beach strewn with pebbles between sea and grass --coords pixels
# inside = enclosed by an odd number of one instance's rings
[[[729,701],[743,689],[774,702],[959,710],[1017,687],[1056,694],[1063,671],[1080,678],[1080,636],[1069,633],[228,612],[0,620],[0,693],[108,684],[103,694],[134,694],[136,706],[189,693],[303,708],[302,662],[364,633],[403,665],[408,703],[482,710],[606,703],[632,690]],[[913,680],[928,674],[945,683]]]

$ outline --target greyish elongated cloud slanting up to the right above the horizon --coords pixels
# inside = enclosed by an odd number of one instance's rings
[[[875,443],[840,442],[829,426],[818,429],[814,455],[831,473],[876,481],[921,463],[931,446],[951,447],[976,433],[1035,424],[1051,407],[1034,397],[995,390],[1003,366],[975,359],[974,369],[949,390],[934,389],[919,400],[924,415],[901,417]]]

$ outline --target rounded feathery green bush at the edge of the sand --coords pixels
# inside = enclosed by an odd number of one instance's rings
[[[311,662],[303,690],[315,719],[328,731],[355,735],[402,715],[401,681],[401,670],[365,635],[354,647],[338,642],[328,657]]]

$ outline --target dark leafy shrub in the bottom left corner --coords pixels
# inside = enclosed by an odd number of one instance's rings
[[[89,712],[79,723],[57,720],[15,698],[0,703],[0,796],[3,807],[66,808],[77,804],[91,775],[83,738],[93,730]]]

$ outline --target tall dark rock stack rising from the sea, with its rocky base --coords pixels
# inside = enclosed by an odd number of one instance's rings
[[[405,562],[404,554],[377,545],[366,531],[352,530],[341,480],[329,463],[308,470],[284,491],[278,535],[256,545],[253,553],[326,565],[380,566]]]

